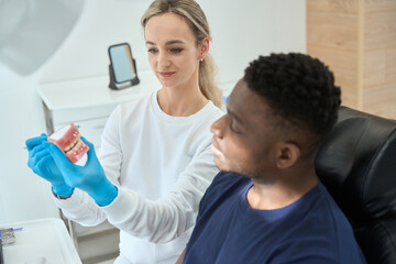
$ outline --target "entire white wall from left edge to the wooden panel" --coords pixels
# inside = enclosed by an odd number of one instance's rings
[[[50,186],[26,166],[24,141],[45,131],[38,82],[108,74],[107,47],[129,42],[138,70],[148,70],[140,16],[147,0],[87,0],[57,53],[21,77],[0,63],[0,223],[55,217]],[[260,54],[305,52],[305,0],[198,0],[212,30],[220,81],[235,81]],[[51,37],[47,37],[51,40]]]

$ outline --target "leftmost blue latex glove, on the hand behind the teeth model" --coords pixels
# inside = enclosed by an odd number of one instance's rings
[[[50,182],[53,186],[53,191],[62,197],[70,196],[74,187],[68,186],[61,170],[56,167],[54,158],[50,154],[50,142],[47,142],[46,134],[29,139],[25,142],[29,161],[28,166],[42,178]]]

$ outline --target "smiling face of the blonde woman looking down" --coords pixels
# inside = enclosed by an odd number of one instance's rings
[[[153,16],[144,33],[150,66],[163,87],[198,84],[199,59],[206,55],[206,44],[197,47],[195,35],[182,16],[174,13]]]

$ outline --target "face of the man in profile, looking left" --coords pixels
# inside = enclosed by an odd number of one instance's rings
[[[263,174],[271,177],[277,138],[266,120],[270,111],[265,100],[241,79],[228,99],[227,111],[210,127],[216,165],[253,178]]]

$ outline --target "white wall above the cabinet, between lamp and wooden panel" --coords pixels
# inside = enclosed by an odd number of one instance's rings
[[[148,70],[140,18],[150,2],[87,1],[77,29],[46,65],[42,81],[106,75],[107,48],[121,42],[131,44],[138,69]],[[260,54],[305,52],[305,0],[198,0],[198,3],[212,31],[210,52],[218,64],[220,81],[242,77],[248,63]]]

